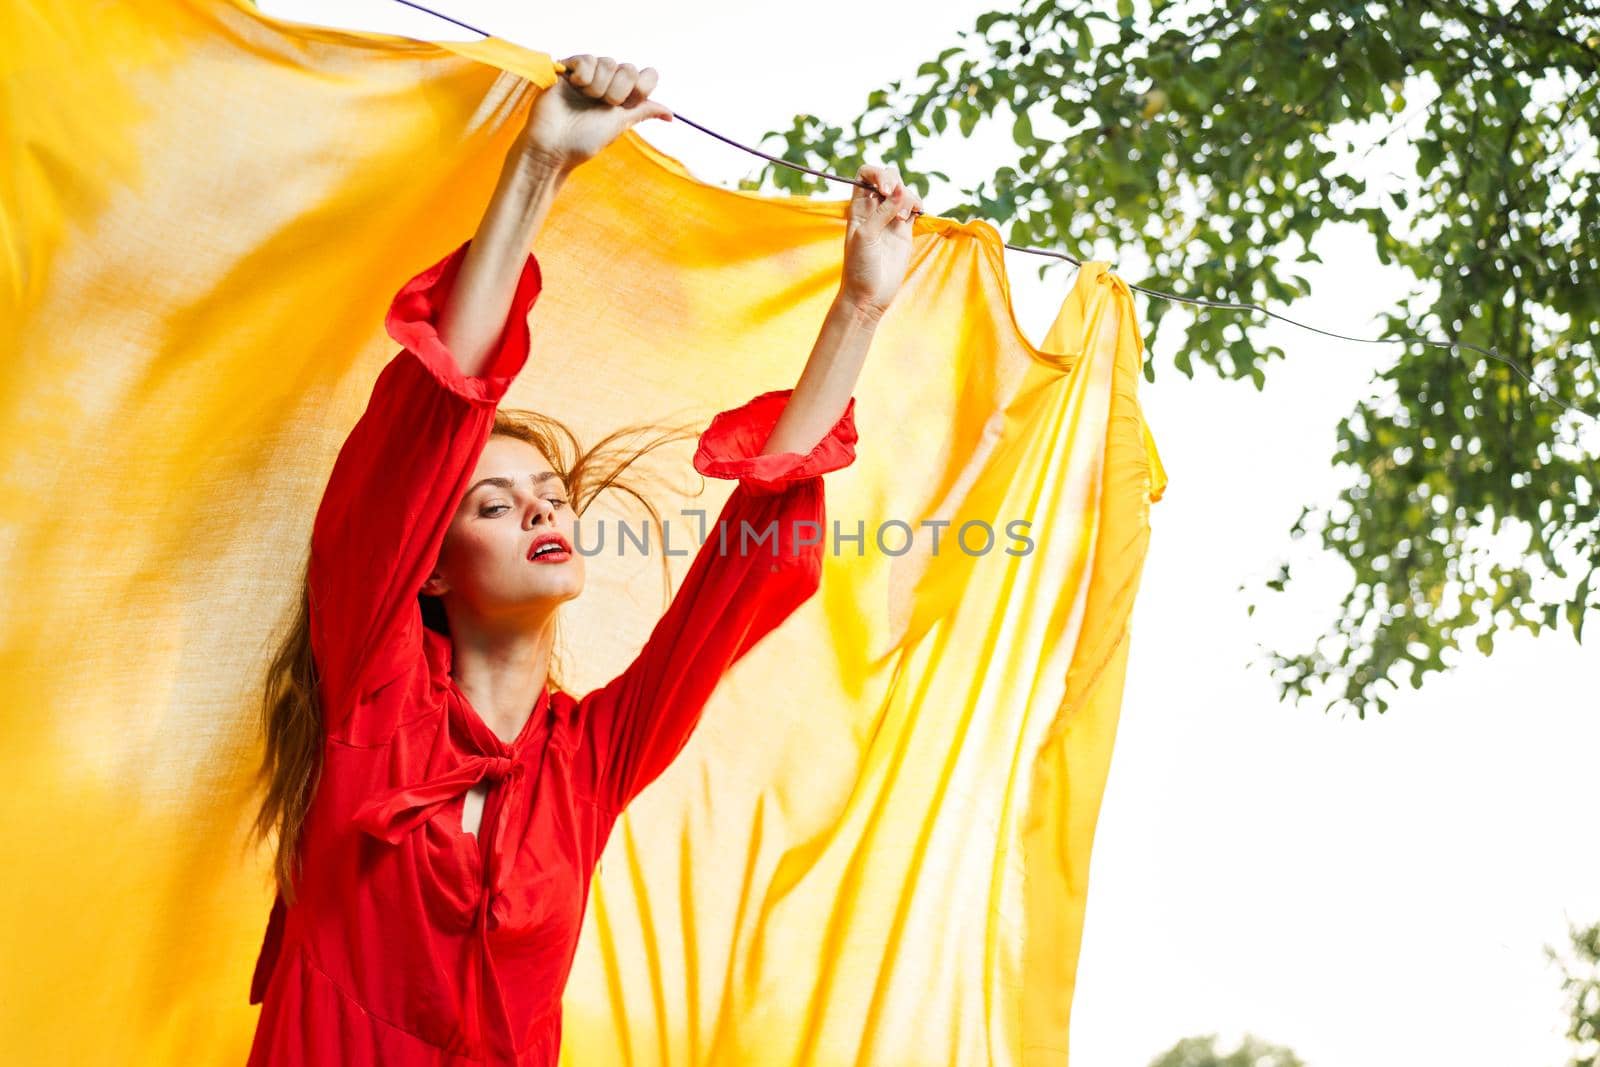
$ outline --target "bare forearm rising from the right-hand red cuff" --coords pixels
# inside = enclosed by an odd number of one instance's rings
[[[834,429],[856,390],[880,317],[882,312],[850,299],[843,291],[834,298],[800,381],[762,454],[808,453]]]

